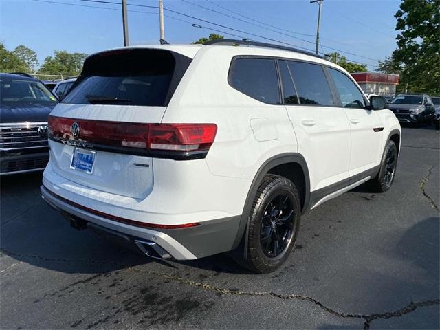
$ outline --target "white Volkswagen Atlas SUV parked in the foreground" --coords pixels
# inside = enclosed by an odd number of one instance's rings
[[[50,114],[41,193],[74,227],[148,256],[233,250],[271,272],[301,214],[360,184],[391,187],[401,130],[385,108],[338,65],[276,45],[98,52]]]

